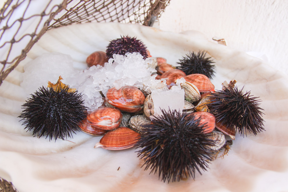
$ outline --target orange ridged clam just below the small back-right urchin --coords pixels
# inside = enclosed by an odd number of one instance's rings
[[[210,79],[203,74],[191,74],[184,77],[190,83],[193,83],[200,92],[215,91],[215,86],[211,83]]]

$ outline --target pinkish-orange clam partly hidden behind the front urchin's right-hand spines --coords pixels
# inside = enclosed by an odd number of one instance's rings
[[[200,125],[206,123],[206,125],[204,126],[203,133],[211,133],[215,129],[215,117],[212,113],[197,111],[191,113],[190,115],[193,115],[195,119],[200,118]]]

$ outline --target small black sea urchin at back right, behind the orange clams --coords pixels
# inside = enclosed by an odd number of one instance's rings
[[[206,53],[207,52],[199,51],[198,54],[196,54],[190,51],[182,59],[179,59],[177,63],[181,66],[177,66],[176,69],[182,70],[186,75],[200,73],[212,79],[215,76],[215,65],[211,64],[214,63],[211,57],[205,58]]]

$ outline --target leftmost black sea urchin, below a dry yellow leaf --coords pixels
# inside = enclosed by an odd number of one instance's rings
[[[33,130],[33,135],[43,136],[49,140],[53,137],[64,140],[64,137],[72,137],[72,133],[78,131],[79,123],[86,118],[82,95],[76,92],[67,92],[69,87],[60,89],[39,88],[31,98],[22,105],[23,112],[19,116],[25,120],[22,125],[25,129]]]

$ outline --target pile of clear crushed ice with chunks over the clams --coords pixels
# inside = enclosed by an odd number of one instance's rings
[[[162,109],[183,109],[184,91],[180,86],[168,90],[165,80],[156,80],[156,75],[152,75],[156,70],[148,67],[149,63],[152,63],[152,59],[144,60],[139,53],[126,53],[125,56],[114,54],[113,59],[109,59],[105,66],[97,65],[79,71],[73,68],[73,60],[69,55],[43,54],[25,65],[21,87],[31,94],[39,87],[47,87],[48,81],[56,83],[61,75],[63,83],[83,94],[84,105],[89,108],[88,111],[94,111],[102,105],[100,91],[106,96],[108,89],[119,89],[124,85],[136,86],[146,93],[152,92],[156,106]],[[179,99],[182,97],[183,102]],[[168,103],[171,105],[168,106]],[[156,110],[156,113],[158,111]]]

